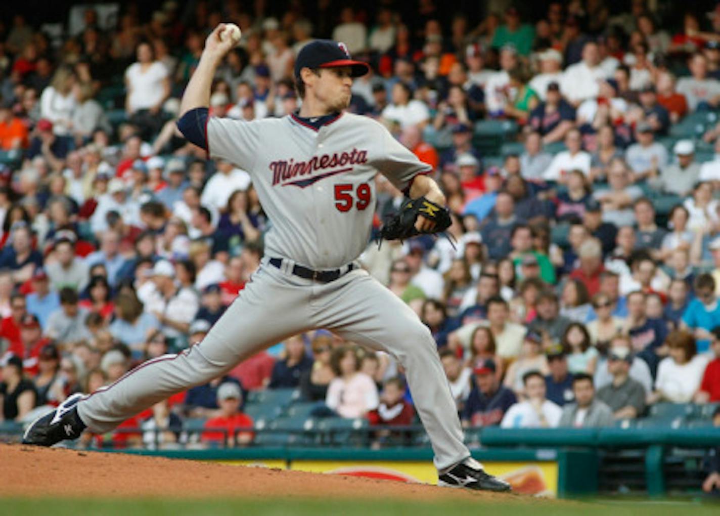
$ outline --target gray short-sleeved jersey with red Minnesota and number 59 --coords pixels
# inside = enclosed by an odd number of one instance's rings
[[[381,124],[343,113],[319,130],[287,116],[251,123],[210,118],[210,156],[250,172],[272,227],[266,254],[311,269],[341,267],[360,256],[375,211],[374,177],[405,190],[431,167]]]

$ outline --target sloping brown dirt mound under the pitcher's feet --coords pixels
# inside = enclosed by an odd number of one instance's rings
[[[0,445],[0,497],[322,497],[525,499],[353,476],[120,453]]]

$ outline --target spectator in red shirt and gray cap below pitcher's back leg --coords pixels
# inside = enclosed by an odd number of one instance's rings
[[[243,403],[240,386],[237,383],[223,383],[217,389],[217,404],[220,416],[208,419],[202,432],[202,441],[210,443],[226,442],[228,447],[246,445],[255,438],[255,432],[247,431],[253,427],[253,419],[240,412]],[[246,430],[240,431],[238,430]],[[227,439],[227,440],[226,440]]]

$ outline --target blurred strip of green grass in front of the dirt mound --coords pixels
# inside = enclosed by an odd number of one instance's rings
[[[476,503],[412,502],[403,500],[318,499],[0,499],[0,515],[52,516],[665,516],[692,511],[693,516],[717,515],[720,508],[695,502],[537,502]]]

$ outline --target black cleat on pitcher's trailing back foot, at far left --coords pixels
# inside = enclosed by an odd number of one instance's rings
[[[22,444],[52,446],[66,439],[77,439],[85,430],[85,424],[78,416],[78,401],[82,394],[73,394],[57,409],[35,419],[22,436]]]

